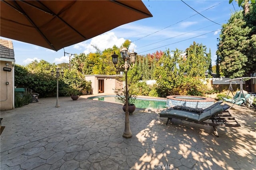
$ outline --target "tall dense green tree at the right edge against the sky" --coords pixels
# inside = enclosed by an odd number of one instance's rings
[[[250,4],[248,14],[236,12],[222,26],[218,63],[226,77],[250,76],[256,70],[256,4]]]

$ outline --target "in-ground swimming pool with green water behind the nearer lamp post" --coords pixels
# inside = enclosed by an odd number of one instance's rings
[[[88,97],[88,99],[106,101],[111,103],[121,103],[115,98],[115,95]],[[141,109],[163,109],[166,108],[166,101],[164,99],[145,99],[137,97],[135,100],[136,108]]]

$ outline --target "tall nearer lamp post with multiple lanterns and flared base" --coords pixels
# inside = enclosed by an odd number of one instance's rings
[[[126,47],[122,47],[120,49],[120,53],[122,56],[122,59],[124,60],[124,64],[120,65],[119,69],[121,67],[124,68],[125,72],[125,124],[124,124],[124,133],[123,137],[130,138],[132,137],[132,132],[130,130],[130,121],[129,121],[129,111],[128,111],[128,85],[127,85],[127,71],[129,68],[133,68],[136,61],[136,54],[134,51],[132,51],[130,54],[128,54],[128,49]],[[116,52],[112,55],[112,61],[116,67],[118,60],[118,55],[116,55]],[[132,66],[130,65],[132,63]],[[116,67],[118,69],[118,67]]]

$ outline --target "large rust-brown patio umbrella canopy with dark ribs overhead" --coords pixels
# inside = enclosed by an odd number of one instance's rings
[[[0,36],[58,51],[148,17],[141,0],[1,0]]]

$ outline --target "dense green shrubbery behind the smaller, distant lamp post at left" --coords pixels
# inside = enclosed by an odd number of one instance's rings
[[[39,97],[54,96],[56,94],[56,77],[51,76],[51,71],[56,67],[62,67],[66,64],[55,65],[41,60],[32,61],[26,66],[15,65],[14,84],[16,87],[25,87],[32,89],[33,92],[39,93]],[[74,87],[80,89],[90,90],[91,85],[84,80],[84,75],[77,69],[68,67],[64,69],[64,77],[59,77],[59,95],[66,95],[64,89],[67,87]]]

